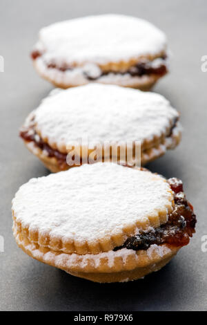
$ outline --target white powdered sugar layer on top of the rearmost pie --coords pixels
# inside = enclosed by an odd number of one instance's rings
[[[98,15],[42,28],[36,48],[57,64],[106,64],[166,50],[161,30],[135,17]]]

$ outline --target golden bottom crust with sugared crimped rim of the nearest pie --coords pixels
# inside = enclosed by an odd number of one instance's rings
[[[151,245],[148,250],[137,252],[124,248],[117,252],[99,254],[66,254],[54,252],[38,243],[31,243],[26,234],[18,232],[15,226],[13,226],[13,233],[17,245],[30,257],[77,277],[99,282],[124,281],[127,277],[130,280],[143,277],[152,271],[159,270],[180,249],[180,247],[175,248],[163,244]]]

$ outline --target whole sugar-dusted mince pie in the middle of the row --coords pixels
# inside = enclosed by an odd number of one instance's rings
[[[126,111],[126,105],[130,113]],[[121,162],[121,148],[126,150],[128,140],[132,139],[133,154],[127,158],[126,163],[143,166],[179,144],[181,127],[178,119],[177,111],[161,95],[94,84],[60,91],[47,97],[28,116],[21,135],[26,147],[50,171],[77,166],[75,163],[72,166],[66,163],[66,156],[70,152],[68,147],[76,149],[77,145],[79,165],[82,162],[87,163],[92,149],[83,150],[79,141],[81,136],[87,134],[88,148],[95,148],[99,144],[102,146],[101,156],[97,161],[115,161],[113,158],[117,158],[117,162]],[[37,136],[24,136],[24,133],[30,135],[32,132]],[[39,147],[36,137],[50,149],[65,154],[64,163],[61,161],[60,164],[55,155],[48,155],[48,151]],[[135,161],[137,141],[141,145],[141,164]],[[120,150],[116,152],[116,157],[111,149],[108,153],[105,151],[106,142],[113,146],[118,144]]]

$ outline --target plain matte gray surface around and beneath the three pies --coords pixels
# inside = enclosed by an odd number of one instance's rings
[[[205,0],[1,0],[0,73],[1,179],[0,310],[206,310],[207,252],[201,251],[206,225],[207,55]],[[152,21],[168,35],[173,53],[170,74],[155,91],[181,112],[181,145],[148,168],[184,181],[197,214],[197,233],[168,266],[128,284],[94,284],[34,261],[12,237],[10,202],[19,186],[48,171],[18,138],[18,129],[52,86],[33,71],[29,52],[42,26],[108,12]]]

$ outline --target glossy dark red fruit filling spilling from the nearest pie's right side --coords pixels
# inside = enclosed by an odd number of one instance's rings
[[[181,180],[170,178],[168,183],[174,192],[175,200],[175,207],[168,216],[168,222],[149,232],[140,232],[136,236],[129,237],[124,245],[116,247],[115,251],[121,248],[147,250],[150,245],[164,243],[175,247],[188,245],[197,222],[193,206],[186,200]]]

